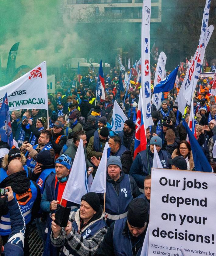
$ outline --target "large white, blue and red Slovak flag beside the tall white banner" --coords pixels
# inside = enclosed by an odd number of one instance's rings
[[[140,89],[140,98],[138,102],[138,111],[137,111],[137,122],[136,122],[136,132],[135,132],[135,141],[134,141],[134,159],[136,155],[143,150],[146,150],[147,139],[145,134],[145,126],[143,121],[143,98],[142,98],[142,87]]]

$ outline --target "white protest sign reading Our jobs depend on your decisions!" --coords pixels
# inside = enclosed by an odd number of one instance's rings
[[[148,256],[216,255],[216,175],[152,168]]]

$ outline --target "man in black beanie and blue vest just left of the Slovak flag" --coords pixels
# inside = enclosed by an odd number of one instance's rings
[[[121,138],[121,144],[134,153],[134,139],[135,139],[135,127],[134,122],[131,119],[127,119],[124,122],[124,128],[118,133],[118,137]]]

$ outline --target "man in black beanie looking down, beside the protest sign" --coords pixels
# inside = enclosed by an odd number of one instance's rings
[[[110,225],[97,255],[140,255],[148,226],[148,210],[145,199],[132,200],[127,217]]]

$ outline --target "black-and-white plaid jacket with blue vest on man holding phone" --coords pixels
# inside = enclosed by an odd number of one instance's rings
[[[55,247],[62,247],[60,255],[96,255],[103,242],[108,228],[102,209],[87,222],[81,233],[78,232],[80,229],[79,212],[80,210],[71,212],[69,216],[72,222],[72,231],[69,235],[66,235],[64,228],[61,229],[57,238],[54,238],[53,232],[51,233],[51,243]]]

